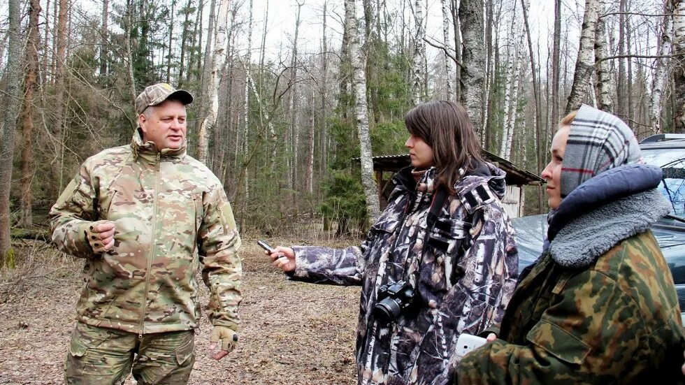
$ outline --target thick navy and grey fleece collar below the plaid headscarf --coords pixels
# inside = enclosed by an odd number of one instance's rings
[[[550,212],[545,251],[565,268],[584,268],[646,231],[670,208],[654,188],[661,175],[658,167],[629,164],[587,180]]]

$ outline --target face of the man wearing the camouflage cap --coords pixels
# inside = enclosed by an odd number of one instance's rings
[[[143,130],[143,143],[154,142],[157,150],[176,150],[185,143],[186,114],[180,101],[166,100],[150,106],[147,115],[138,115],[138,125]]]

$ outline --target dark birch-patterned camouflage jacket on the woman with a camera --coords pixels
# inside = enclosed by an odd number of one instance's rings
[[[446,384],[459,334],[500,321],[518,272],[513,230],[500,198],[504,173],[482,164],[456,183],[428,228],[431,168],[419,180],[396,175],[387,208],[361,247],[294,247],[292,279],[361,285],[356,364],[359,384]],[[382,284],[407,280],[414,305],[391,324],[373,307]]]

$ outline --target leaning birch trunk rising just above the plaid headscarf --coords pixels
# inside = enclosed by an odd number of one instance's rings
[[[599,0],[586,0],[583,27],[580,32],[580,48],[575,63],[573,86],[566,103],[566,112],[577,110],[586,96],[587,85],[591,84],[594,71],[594,46],[599,17]]]

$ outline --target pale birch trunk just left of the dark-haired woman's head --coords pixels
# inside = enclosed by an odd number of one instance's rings
[[[349,55],[352,58],[356,128],[359,133],[361,152],[361,184],[366,198],[366,211],[371,223],[380,215],[376,184],[373,180],[373,155],[368,132],[368,107],[366,105],[366,76],[363,53],[359,48],[359,27],[356,21],[355,0],[345,0],[345,29],[350,38]]]

